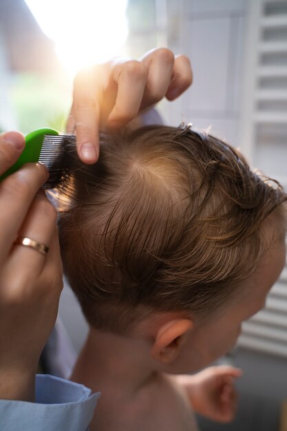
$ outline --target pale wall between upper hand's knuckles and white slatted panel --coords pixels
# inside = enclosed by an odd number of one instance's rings
[[[189,56],[194,74],[191,90],[166,104],[168,122],[211,127],[211,133],[239,145],[246,1],[168,1],[168,10],[169,46]]]

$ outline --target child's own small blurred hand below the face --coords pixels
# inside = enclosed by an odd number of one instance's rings
[[[195,412],[213,421],[229,422],[237,409],[234,379],[241,375],[240,368],[213,366],[193,376],[178,376],[178,383],[187,390]]]

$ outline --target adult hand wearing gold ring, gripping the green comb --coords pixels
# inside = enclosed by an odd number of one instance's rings
[[[19,158],[25,139],[0,135],[0,174]],[[24,165],[0,183],[0,398],[32,401],[34,375],[56,320],[62,264],[56,210],[39,191],[40,164]],[[19,236],[49,246],[43,254],[14,244]]]

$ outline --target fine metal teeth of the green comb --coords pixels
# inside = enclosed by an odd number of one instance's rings
[[[67,147],[69,147],[68,150]],[[53,189],[67,176],[65,155],[71,151],[71,147],[76,148],[76,136],[74,135],[45,135],[39,162],[47,167],[50,177],[43,185],[44,189]]]

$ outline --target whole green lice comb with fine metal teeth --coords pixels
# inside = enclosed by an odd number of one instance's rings
[[[76,136],[59,135],[54,129],[37,129],[25,136],[25,148],[16,163],[0,176],[0,181],[13,174],[25,163],[41,162],[47,167],[50,177],[43,185],[44,189],[52,189],[59,185],[67,175],[65,169],[65,151],[76,148]]]

